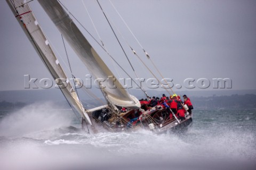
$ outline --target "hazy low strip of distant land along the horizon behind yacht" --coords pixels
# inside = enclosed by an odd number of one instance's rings
[[[104,101],[99,89],[94,89],[93,92]],[[150,96],[161,97],[162,94],[169,96],[166,91],[147,90],[147,92]],[[129,93],[138,99],[145,98],[137,89],[131,89]],[[195,108],[256,108],[256,90],[191,90],[177,91],[177,94],[189,96]],[[102,105],[81,89],[78,89],[78,95],[86,108]],[[0,108],[21,108],[44,102],[52,102],[59,108],[69,108],[59,89],[0,91]]]

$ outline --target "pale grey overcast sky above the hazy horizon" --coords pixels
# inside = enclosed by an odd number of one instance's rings
[[[82,1],[61,0],[61,2],[99,40]],[[84,2],[110,54],[134,77],[99,6],[92,0],[84,0]],[[143,61],[150,64],[109,1],[100,2],[109,19],[113,20],[129,44]],[[256,1],[112,0],[112,2],[164,77],[172,78],[174,84],[182,84],[186,78],[209,80],[230,78],[233,81],[233,89],[256,89]],[[67,58],[60,33],[36,0],[29,5],[49,38],[50,44],[54,46],[57,57],[63,58],[60,62],[70,76],[65,65]],[[51,78],[9,6],[3,0],[0,1],[0,14],[2,16],[0,90],[24,89],[24,74],[30,74],[31,78]],[[81,31],[116,74],[115,66],[106,53],[82,28]],[[129,51],[125,41],[122,38],[121,41],[140,77],[149,78],[150,75]],[[84,79],[89,72],[70,47],[67,48],[67,52],[74,74]],[[119,69],[117,72],[121,73],[121,77],[127,77]],[[118,74],[116,76],[119,77]]]

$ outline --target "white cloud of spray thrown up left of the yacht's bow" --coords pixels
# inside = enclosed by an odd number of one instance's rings
[[[71,114],[55,109],[51,103],[31,104],[0,120],[0,136],[24,136],[67,126],[73,121]]]

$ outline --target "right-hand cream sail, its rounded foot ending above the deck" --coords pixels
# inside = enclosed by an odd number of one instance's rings
[[[93,77],[103,87],[103,94],[108,101],[117,106],[140,107],[138,99],[129,95],[121,83],[115,80],[114,74],[95,52],[59,2],[57,0],[38,0],[38,2]]]

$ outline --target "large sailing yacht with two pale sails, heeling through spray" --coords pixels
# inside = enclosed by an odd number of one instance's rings
[[[67,99],[70,106],[81,115],[82,127],[84,129],[87,128],[87,131],[97,132],[97,127],[103,126],[109,131],[148,129],[155,133],[163,133],[170,129],[181,129],[191,124],[192,115],[187,112],[186,105],[182,104],[182,107],[184,107],[187,113],[185,119],[181,121],[174,115],[171,109],[165,108],[162,105],[151,107],[150,104],[141,104],[135,96],[130,95],[126,89],[123,88],[122,84],[116,80],[113,72],[105,62],[103,62],[101,57],[70,18],[69,14],[71,16],[73,15],[68,11],[67,7],[59,0],[38,0],[46,14],[49,15],[52,22],[58,28],[63,36],[62,38],[67,41],[101,87],[100,90],[107,104],[92,109],[86,109],[81,99],[78,97],[76,87],[73,87],[74,85],[69,81],[39,22],[35,18],[29,6],[29,2],[31,1],[6,0],[6,2],[9,4],[15,18],[20,23],[21,28],[26,33],[30,43],[34,46],[38,56],[51,73],[56,84],[60,87],[59,89],[62,94]],[[99,1],[97,2],[103,12]],[[69,14],[67,12],[69,12]],[[137,55],[132,48],[131,50]],[[146,50],[143,49],[143,51],[151,61]],[[154,62],[152,63],[155,66]],[[145,66],[147,67],[147,65]],[[156,78],[156,75],[153,72],[151,73]],[[74,75],[73,78],[75,78]],[[113,84],[115,88],[113,88]],[[146,97],[149,98],[147,92],[143,88],[141,88],[141,90],[145,93]],[[173,94],[175,93],[173,92]],[[125,112],[121,112],[121,108],[126,108]],[[172,118],[170,118],[170,114],[173,115]]]

